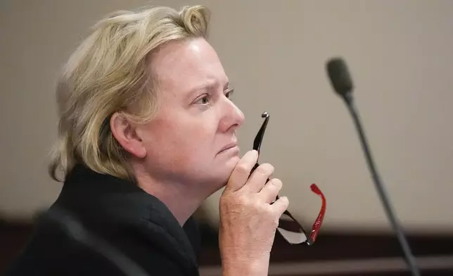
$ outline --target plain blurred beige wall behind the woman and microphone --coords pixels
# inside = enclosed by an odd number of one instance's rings
[[[261,162],[283,180],[290,210],[312,225],[326,194],[324,229],[388,229],[355,128],[324,64],[343,56],[371,149],[397,214],[411,231],[453,230],[453,1],[0,2],[0,213],[29,218],[60,184],[46,175],[56,134],[53,81],[101,16],[143,4],[206,4],[210,42],[236,87],[250,149],[271,115]],[[205,204],[218,221],[218,197]]]

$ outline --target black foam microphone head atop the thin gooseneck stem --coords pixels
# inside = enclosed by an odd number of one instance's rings
[[[338,94],[345,96],[352,92],[354,85],[352,84],[349,70],[347,70],[347,65],[342,58],[331,58],[326,64],[326,70],[333,89]]]

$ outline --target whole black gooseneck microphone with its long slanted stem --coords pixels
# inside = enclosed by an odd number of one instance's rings
[[[343,98],[347,105],[347,108],[352,115],[352,119],[354,120],[355,127],[362,144],[362,149],[364,150],[366,156],[366,162],[368,163],[369,170],[374,180],[374,185],[376,186],[378,195],[383,204],[385,214],[387,215],[388,220],[390,220],[390,223],[393,226],[393,230],[395,230],[396,232],[397,239],[400,242],[400,246],[402,247],[402,251],[404,253],[404,258],[407,265],[409,266],[409,270],[411,270],[411,275],[419,276],[420,272],[419,268],[417,268],[416,266],[415,258],[411,253],[411,249],[409,248],[409,244],[407,243],[406,238],[404,237],[402,227],[397,221],[395,212],[393,211],[393,207],[390,203],[390,199],[388,199],[388,195],[385,192],[385,188],[376,170],[376,165],[374,165],[374,160],[371,156],[371,150],[369,149],[365,132],[362,127],[362,123],[360,122],[359,113],[354,104],[354,98],[352,96],[354,85],[352,84],[352,79],[349,70],[347,69],[347,65],[342,58],[331,58],[326,63],[326,70],[333,89],[338,95]]]

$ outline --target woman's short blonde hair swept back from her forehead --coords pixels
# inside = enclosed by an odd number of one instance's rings
[[[110,131],[110,116],[120,112],[136,122],[153,118],[158,80],[151,72],[150,54],[168,42],[207,37],[209,14],[204,6],[180,11],[151,7],[117,11],[94,25],[58,79],[58,137],[49,164],[53,180],[64,181],[77,163],[134,180]],[[59,169],[63,179],[57,177]]]

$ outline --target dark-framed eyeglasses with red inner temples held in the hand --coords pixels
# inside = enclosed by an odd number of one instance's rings
[[[264,112],[262,113],[261,117],[264,118],[264,122],[262,123],[262,126],[258,131],[255,140],[253,141],[253,149],[258,151],[258,153],[260,153],[264,132],[266,131],[267,123],[269,122],[269,113]],[[258,168],[259,165],[259,163],[256,163],[253,166],[252,172],[256,168]],[[269,181],[269,179],[267,179],[267,181]],[[286,242],[290,244],[312,245],[317,239],[319,229],[321,228],[322,221],[324,220],[324,215],[326,213],[326,198],[316,184],[312,184],[310,188],[312,189],[312,192],[314,192],[314,194],[317,194],[321,197],[322,201],[321,210],[319,211],[319,215],[312,225],[312,231],[310,232],[310,234],[305,231],[302,225],[300,225],[300,223],[293,217],[293,215],[291,215],[291,213],[289,213],[288,210],[286,210],[279,219],[279,226],[277,227],[277,230],[279,234],[281,234],[281,237],[283,237],[283,239],[285,239]],[[276,199],[279,199],[279,196],[276,196]]]

